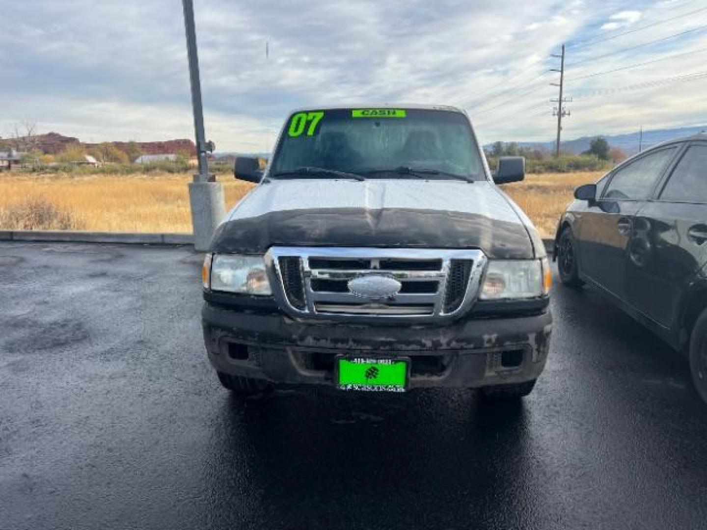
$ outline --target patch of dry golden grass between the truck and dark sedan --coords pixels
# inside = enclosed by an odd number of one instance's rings
[[[503,186],[503,191],[527,213],[543,237],[552,237],[560,214],[573,200],[575,188],[596,182],[602,175],[602,172],[527,175],[523,182]]]

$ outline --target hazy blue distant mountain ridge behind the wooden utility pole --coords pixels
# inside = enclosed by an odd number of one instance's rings
[[[655,146],[656,143],[662,143],[668,140],[682,138],[683,136],[692,136],[693,134],[699,134],[701,132],[707,131],[707,125],[693,126],[693,127],[682,127],[679,129],[657,129],[655,131],[643,131],[643,142],[642,148],[648,148],[650,146]],[[582,136],[581,138],[574,140],[563,140],[562,141],[562,151],[566,153],[583,153],[589,149],[589,143],[592,139],[597,136],[602,136],[609,142],[612,147],[617,147],[624,151],[627,155],[633,155],[638,153],[639,141],[641,140],[641,135],[638,131],[627,133],[627,134],[616,134],[616,135],[604,135],[597,134],[595,136]],[[540,149],[543,151],[552,151],[555,148],[554,141],[547,142],[517,142],[518,146],[526,147],[530,149]],[[484,146],[485,148],[491,148],[491,144]]]

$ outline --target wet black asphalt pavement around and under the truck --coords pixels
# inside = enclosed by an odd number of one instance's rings
[[[206,361],[188,249],[0,243],[0,529],[703,529],[686,360],[555,288],[522,404],[275,391]]]

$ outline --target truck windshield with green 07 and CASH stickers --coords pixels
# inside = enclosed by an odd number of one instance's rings
[[[446,110],[296,112],[286,122],[270,175],[337,178],[321,170],[366,178],[483,177],[469,121]]]

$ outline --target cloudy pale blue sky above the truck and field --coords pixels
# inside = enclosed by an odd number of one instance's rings
[[[291,108],[337,102],[457,105],[484,142],[550,140],[563,42],[564,138],[707,124],[707,0],[194,4],[218,151],[263,151]],[[83,141],[193,136],[179,0],[23,0],[1,18],[1,136],[22,120]]]

